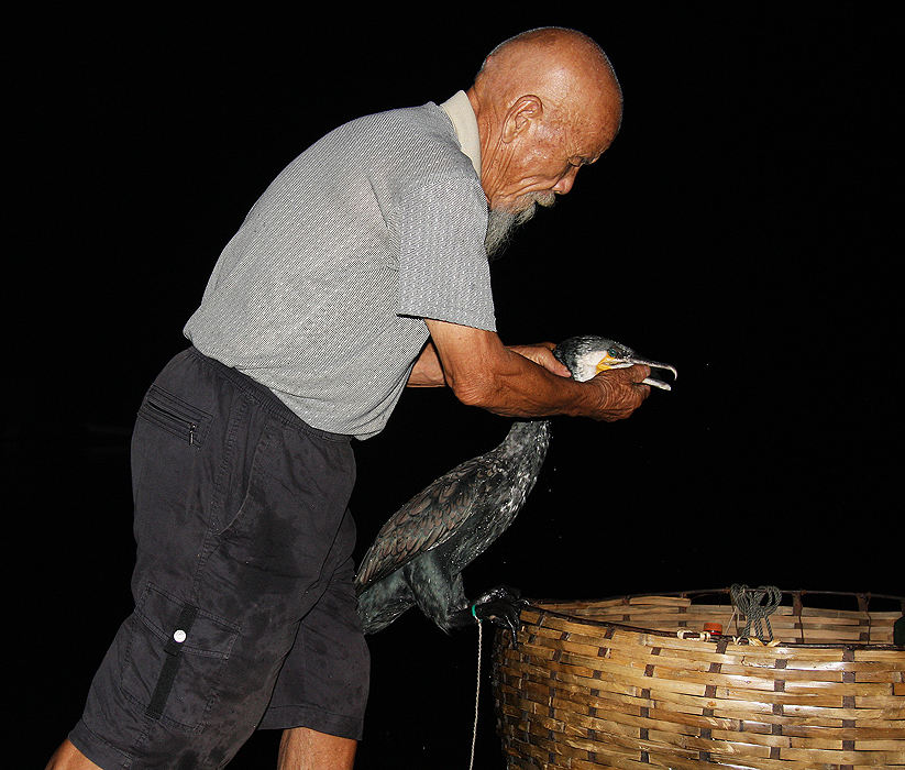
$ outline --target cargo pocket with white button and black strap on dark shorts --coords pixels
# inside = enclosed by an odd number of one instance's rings
[[[239,626],[148,584],[130,618],[123,692],[151,719],[200,730],[217,702]]]

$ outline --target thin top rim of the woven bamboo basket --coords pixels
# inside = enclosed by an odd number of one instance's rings
[[[847,596],[847,597],[854,597],[861,601],[869,602],[871,598],[882,598],[882,600],[893,600],[898,601],[902,603],[902,610],[905,614],[905,596],[896,596],[891,594],[874,594],[874,593],[867,593],[867,592],[848,592],[848,591],[807,591],[807,590],[797,590],[797,591],[785,591],[780,588],[780,593],[783,597],[786,595],[791,595],[793,597],[793,602],[797,598],[801,601],[801,597],[810,594],[815,596]],[[702,596],[702,595],[719,595],[719,594],[729,594],[729,588],[700,588],[695,591],[667,591],[667,592],[644,592],[638,594],[618,594],[615,596],[608,596],[603,598],[588,598],[588,600],[571,600],[572,602],[582,602],[594,604],[595,602],[615,602],[617,600],[622,600],[628,602],[632,598],[647,598],[647,597],[677,597],[677,598],[693,598],[694,596]],[[538,606],[537,603],[550,603],[550,604],[567,604],[570,601],[564,600],[553,600],[553,598],[526,598],[526,605],[522,606],[522,609],[533,609],[540,614],[552,615],[553,617],[562,618],[565,620],[573,620],[582,624],[586,624],[589,626],[599,626],[604,628],[612,628],[612,629],[621,629],[628,631],[634,631],[638,634],[650,634],[652,636],[659,636],[664,638],[674,638],[675,634],[671,631],[661,631],[655,628],[644,628],[642,626],[633,626],[627,623],[619,623],[617,620],[597,620],[594,618],[578,616],[578,615],[570,615],[567,613],[556,612],[554,609],[550,609],[549,607]],[[732,635],[730,634],[710,634],[710,644],[720,644],[720,641],[729,641],[733,639]],[[697,641],[697,640],[696,640]],[[702,640],[704,641],[704,640]],[[846,641],[846,642],[803,642],[803,641],[783,641],[781,644],[784,648],[793,648],[793,649],[832,649],[832,650],[905,650],[905,646],[902,645],[886,645],[886,644],[872,644],[872,642],[863,642],[863,641]]]

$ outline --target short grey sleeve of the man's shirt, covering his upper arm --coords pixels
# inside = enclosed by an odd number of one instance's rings
[[[438,178],[409,190],[398,223],[399,315],[496,331],[477,179]]]

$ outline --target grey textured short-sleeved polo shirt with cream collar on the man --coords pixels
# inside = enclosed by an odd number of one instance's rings
[[[463,98],[451,114],[473,143]],[[185,334],[309,425],[368,438],[428,339],[424,318],[495,331],[486,229],[478,173],[443,108],[361,118],[271,184]]]

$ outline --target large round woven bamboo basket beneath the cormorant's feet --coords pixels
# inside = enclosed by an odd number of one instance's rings
[[[893,644],[905,598],[840,596],[851,609],[783,592],[768,644],[740,636],[728,590],[531,602],[518,644],[499,631],[494,646],[507,767],[905,765],[905,648]]]

